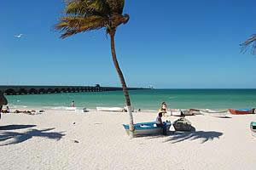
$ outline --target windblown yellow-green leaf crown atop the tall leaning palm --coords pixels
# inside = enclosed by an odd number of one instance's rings
[[[72,0],[67,2],[65,14],[55,29],[63,33],[61,38],[79,32],[106,28],[107,33],[115,31],[121,24],[126,24],[129,15],[123,13],[125,0]]]

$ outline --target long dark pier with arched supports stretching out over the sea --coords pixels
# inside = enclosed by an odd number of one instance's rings
[[[128,90],[139,90],[149,88],[128,88]],[[0,92],[5,95],[24,95],[24,94],[61,94],[61,93],[80,93],[80,92],[103,92],[118,91],[123,88],[96,86],[1,86]]]

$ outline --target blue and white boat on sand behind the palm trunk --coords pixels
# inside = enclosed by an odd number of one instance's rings
[[[166,131],[169,131],[171,127],[171,122],[166,122]],[[129,124],[123,124],[125,127],[125,132],[130,135],[130,126]],[[163,128],[157,127],[156,122],[139,122],[134,124],[134,134],[135,135],[154,135],[154,134],[162,134]]]

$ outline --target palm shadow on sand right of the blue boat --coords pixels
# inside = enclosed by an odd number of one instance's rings
[[[176,144],[184,140],[201,139],[201,144],[203,144],[209,140],[219,139],[222,135],[223,133],[215,131],[195,131],[195,127],[193,127],[191,132],[175,132],[169,134],[168,139],[164,142],[172,142],[172,144]]]

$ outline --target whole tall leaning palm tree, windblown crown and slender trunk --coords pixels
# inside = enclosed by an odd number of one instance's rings
[[[66,16],[61,17],[60,22],[55,25],[55,29],[62,32],[61,38],[70,37],[80,32],[106,29],[107,35],[111,39],[113,64],[118,72],[125,94],[132,138],[134,126],[131,101],[114,47],[114,36],[118,26],[125,25],[130,19],[129,14],[123,14],[124,5],[125,0],[69,0],[65,7]]]

